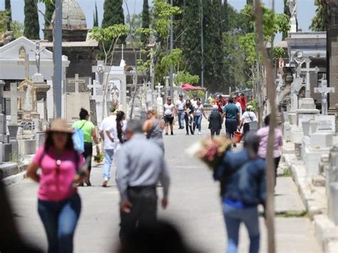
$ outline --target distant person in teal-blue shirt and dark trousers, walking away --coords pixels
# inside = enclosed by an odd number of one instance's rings
[[[237,127],[240,125],[240,111],[237,106],[234,105],[234,100],[232,98],[229,98],[227,102],[227,105],[223,108],[222,121],[225,118],[225,130],[232,140]],[[236,148],[237,145],[234,143],[233,146]]]

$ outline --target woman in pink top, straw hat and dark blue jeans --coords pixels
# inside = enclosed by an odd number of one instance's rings
[[[73,252],[73,235],[81,212],[76,184],[85,180],[88,171],[78,173],[83,156],[73,148],[72,133],[66,121],[54,120],[45,144],[27,168],[27,176],[40,185],[38,210],[46,229],[48,253]]]

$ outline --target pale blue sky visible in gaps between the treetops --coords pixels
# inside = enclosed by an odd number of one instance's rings
[[[103,18],[103,2],[104,0],[77,0],[80,4],[84,14],[87,19],[88,29],[93,27],[93,11],[95,9],[95,2],[98,5],[98,20],[101,24]],[[142,11],[143,0],[126,0],[128,4],[128,9],[130,14],[138,14]],[[270,6],[272,0],[262,0],[267,6]],[[151,4],[152,0],[149,0]],[[228,0],[228,3],[235,7],[235,9],[240,10],[245,6],[246,0]],[[282,13],[284,10],[284,0],[275,0],[275,10],[277,13]],[[12,8],[12,19],[24,23],[24,0],[11,0]],[[123,0],[123,8],[125,11],[125,16],[127,16],[127,8],[125,0]],[[0,9],[4,9],[4,1],[0,2]],[[39,4],[39,9],[44,11],[44,5]],[[309,25],[311,24],[311,19],[314,16],[316,6],[314,6],[314,0],[297,0],[297,19],[298,19],[298,28],[302,31],[309,31]],[[43,16],[39,14],[40,28],[43,28]],[[41,38],[42,38],[41,31]],[[279,40],[280,36],[277,36],[276,40]]]

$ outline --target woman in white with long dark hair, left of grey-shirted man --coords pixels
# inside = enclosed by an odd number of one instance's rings
[[[119,110],[116,112],[115,122],[112,125],[108,126],[106,130],[107,138],[111,140],[111,143],[113,143],[113,154],[111,155],[110,167],[107,166],[104,168],[106,170],[106,177],[103,179],[102,187],[107,187],[108,181],[111,178],[111,164],[113,162],[113,156],[115,156],[116,158],[118,157],[118,150],[121,149],[121,145],[125,141],[126,128],[126,113],[124,113],[122,110]]]

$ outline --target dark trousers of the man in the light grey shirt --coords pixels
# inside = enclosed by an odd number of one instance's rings
[[[130,213],[120,211],[120,239],[128,237],[138,226],[156,221],[158,196],[156,187],[129,187],[128,198],[133,204]]]

